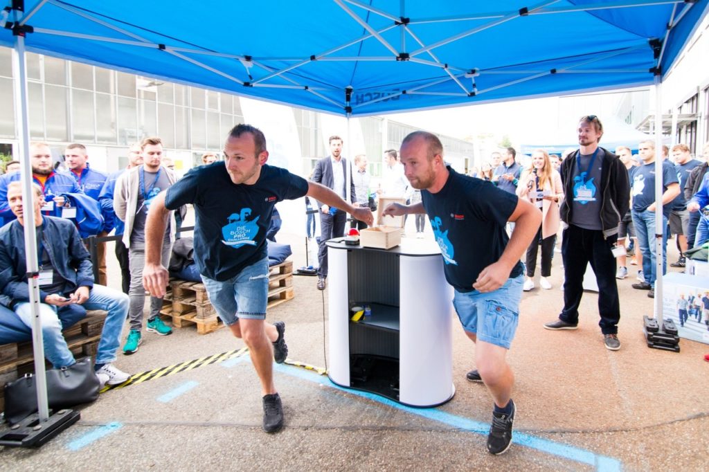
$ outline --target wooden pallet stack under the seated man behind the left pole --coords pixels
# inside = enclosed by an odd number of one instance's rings
[[[105,321],[105,311],[89,311],[86,313],[86,318],[62,331],[74,357],[96,356]],[[48,366],[48,369],[50,368],[51,366]],[[0,410],[5,408],[5,383],[34,371],[31,341],[0,345]]]

